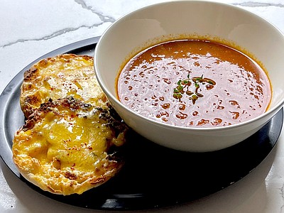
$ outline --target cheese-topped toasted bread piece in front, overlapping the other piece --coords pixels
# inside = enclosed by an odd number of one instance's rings
[[[24,178],[60,195],[81,194],[113,177],[123,165],[116,150],[127,127],[111,106],[73,97],[41,104],[13,139],[13,161]]]

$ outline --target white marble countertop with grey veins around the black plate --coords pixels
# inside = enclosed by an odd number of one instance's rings
[[[45,53],[79,40],[102,35],[111,23],[125,13],[160,1],[2,0],[0,2],[0,94],[23,67]],[[284,32],[283,0],[221,2],[252,11]],[[72,207],[38,194],[1,163],[0,212],[96,211]],[[154,209],[153,212],[284,212],[283,133],[272,153],[239,182],[200,200],[165,209]]]

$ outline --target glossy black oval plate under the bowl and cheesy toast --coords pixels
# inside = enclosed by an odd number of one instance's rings
[[[99,38],[89,38],[54,50],[39,58],[62,53],[93,55]],[[34,62],[37,62],[35,60]],[[189,202],[232,185],[261,163],[271,152],[283,125],[283,109],[260,131],[222,151],[185,153],[147,141],[131,132],[125,148],[126,164],[121,172],[102,186],[82,195],[53,195],[26,181],[12,160],[14,132],[23,125],[19,106],[25,67],[0,96],[0,154],[10,170],[33,190],[53,200],[89,209],[151,209]]]

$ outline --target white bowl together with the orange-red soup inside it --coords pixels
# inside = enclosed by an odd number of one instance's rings
[[[94,58],[97,80],[126,124],[180,151],[234,146],[284,103],[283,33],[230,4],[143,7],[103,33]]]

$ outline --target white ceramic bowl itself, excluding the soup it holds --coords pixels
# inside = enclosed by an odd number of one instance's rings
[[[202,35],[239,45],[261,61],[271,79],[271,107],[261,116],[225,127],[185,128],[162,124],[124,107],[116,97],[121,65],[149,44],[168,38]],[[249,11],[212,1],[170,1],[123,16],[104,32],[95,50],[97,79],[114,109],[133,130],[149,140],[181,151],[216,151],[256,133],[284,103],[284,36]]]

